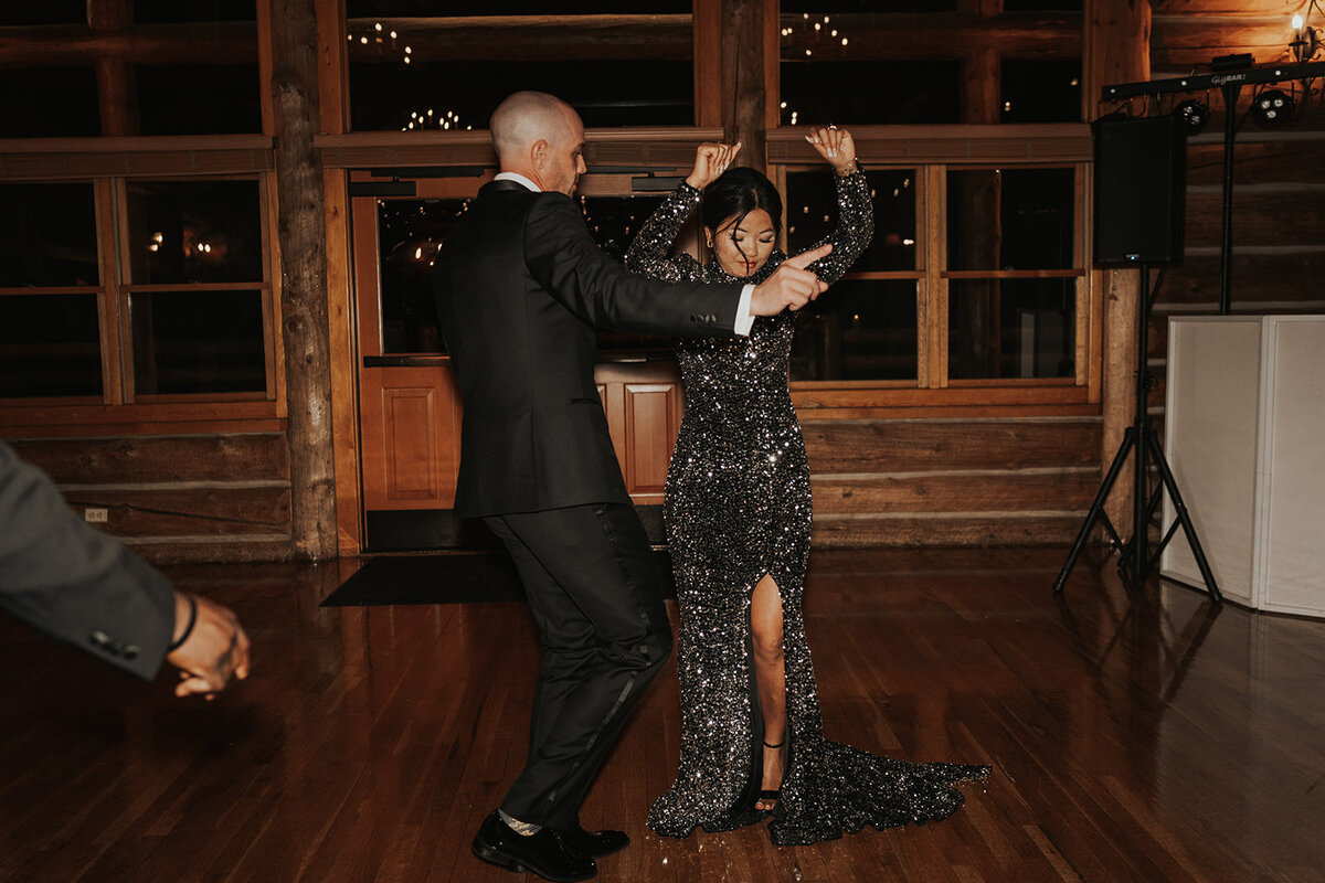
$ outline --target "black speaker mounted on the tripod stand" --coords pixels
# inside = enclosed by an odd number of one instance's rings
[[[1094,132],[1094,262],[1182,261],[1187,132],[1178,118],[1105,116]]]

